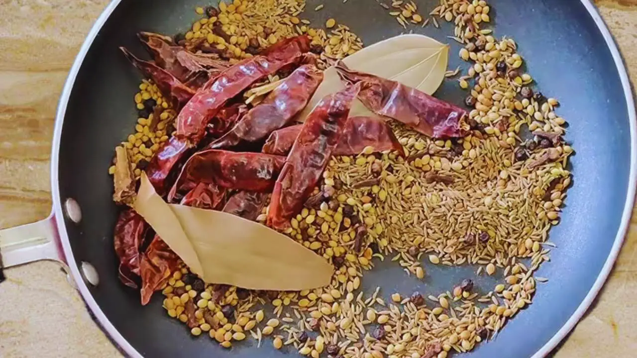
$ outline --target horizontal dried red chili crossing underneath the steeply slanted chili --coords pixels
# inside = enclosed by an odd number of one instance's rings
[[[263,145],[262,152],[287,155],[302,127],[303,124],[292,125],[272,132]],[[333,155],[356,155],[365,147],[372,147],[376,152],[396,150],[404,156],[403,146],[385,120],[374,117],[350,117]]]

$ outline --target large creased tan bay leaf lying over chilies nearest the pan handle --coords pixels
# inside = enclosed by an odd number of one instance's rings
[[[222,211],[167,204],[145,173],[134,209],[205,282],[304,290],[331,281],[333,266],[288,236]]]

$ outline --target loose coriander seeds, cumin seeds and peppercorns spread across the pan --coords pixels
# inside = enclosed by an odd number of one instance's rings
[[[275,348],[292,346],[313,358],[444,358],[492,338],[532,303],[536,283],[546,280],[533,273],[549,259],[547,235],[559,223],[573,152],[562,140],[565,121],[554,111],[557,100],[533,89],[513,39],[497,39],[480,28],[490,21],[484,0],[441,0],[429,18],[413,1],[376,2],[405,29],[424,27],[429,19],[436,26],[438,20],[454,22],[453,37],[464,45],[459,56],[470,64],[457,79],[468,91],[470,131],[438,140],[390,122],[404,155],[366,146],[360,154],[329,159],[310,199],[283,231],[334,264],[329,287],[256,292],[206,285],[187,268],[173,266],[168,282],[161,283],[165,287],[155,288],[162,289],[168,315],[187,324],[193,335],[206,334],[225,348],[247,336],[261,345],[271,336]],[[234,64],[306,34],[311,52],[319,55],[318,68],[325,68],[330,60],[360,50],[362,41],[333,19],[312,27],[299,17],[323,8],[305,10],[297,0],[234,0],[197,8],[201,20],[174,41]],[[284,79],[279,77],[271,75],[254,87]],[[273,87],[245,96],[251,102]],[[138,177],[169,141],[177,113],[149,80],[134,100],[140,118],[123,146]],[[526,129],[533,135],[524,137]],[[255,219],[265,224],[270,208],[259,207]],[[133,223],[129,231],[140,229]],[[381,292],[379,287],[366,295],[364,273],[382,260],[396,261],[419,279],[428,265],[473,264],[476,275],[497,273],[504,281],[486,294],[475,292],[466,278],[449,283],[446,292]],[[152,266],[152,257],[147,261]],[[120,275],[127,273],[120,268]],[[264,304],[273,310],[257,308]]]

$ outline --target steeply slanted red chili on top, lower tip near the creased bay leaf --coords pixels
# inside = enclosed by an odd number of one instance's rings
[[[290,218],[301,211],[338,145],[359,90],[359,85],[348,86],[324,97],[311,111],[276,180],[270,226],[285,229]]]

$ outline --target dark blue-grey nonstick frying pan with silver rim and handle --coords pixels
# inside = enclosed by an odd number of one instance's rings
[[[421,9],[437,2],[419,1]],[[0,233],[5,266],[54,259],[68,268],[87,307],[122,352],[132,357],[282,357],[271,345],[257,350],[250,342],[228,351],[207,337],[193,338],[161,308],[161,294],[140,306],[137,291],[117,278],[107,173],[113,148],[132,130],[132,98],[139,75],[120,54],[125,46],[141,53],[138,31],[173,34],[196,18],[196,0],[115,0],[98,18],[71,68],[62,92],[52,148],[53,210],[49,218]],[[313,9],[318,0],[308,1]],[[592,303],[621,247],[633,208],[637,129],[626,69],[605,24],[587,0],[491,1],[497,36],[512,36],[526,59],[538,89],[557,97],[559,115],[570,125],[566,140],[576,149],[561,223],[552,229],[557,244],[538,275],[550,280],[538,287],[533,304],[508,322],[494,340],[468,357],[541,357],[568,334]],[[425,13],[429,10],[423,10]],[[329,17],[347,24],[367,44],[397,35],[402,28],[387,10],[370,0],[332,2],[303,15],[315,24]],[[416,32],[449,42],[450,25]],[[449,68],[461,65],[458,44],[450,41]],[[466,66],[466,64],[464,64]],[[464,92],[445,82],[436,96],[461,103]],[[429,268],[416,282],[392,265],[365,276],[364,287],[385,292],[427,294],[475,276],[475,268]],[[494,278],[478,278],[493,287]],[[419,286],[419,287],[417,287]]]

